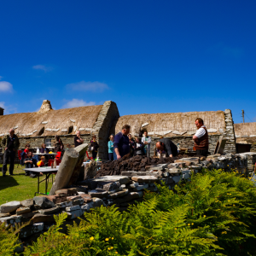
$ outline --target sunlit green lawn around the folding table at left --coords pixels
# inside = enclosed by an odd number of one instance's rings
[[[0,165],[2,167],[2,165]],[[17,168],[15,164],[14,176],[9,176],[9,165],[6,176],[3,177],[3,172],[0,172],[0,205],[8,201],[22,201],[32,198],[34,193],[38,191],[38,177],[25,176],[25,171],[22,169],[25,166]],[[45,175],[40,177],[40,180],[44,179]],[[55,175],[54,175],[55,178]],[[49,177],[48,192],[52,186],[52,178]],[[40,192],[44,193],[45,182],[40,183]],[[38,194],[37,194],[38,195]]]

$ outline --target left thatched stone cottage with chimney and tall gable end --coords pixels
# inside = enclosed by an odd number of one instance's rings
[[[101,148],[99,157],[108,159],[108,134],[115,120],[119,119],[119,110],[114,102],[103,105],[54,110],[49,101],[45,100],[38,112],[13,113],[0,115],[0,137],[8,134],[13,127],[20,137],[20,148],[30,143],[32,148],[54,147],[55,135],[62,142],[73,145],[76,131],[80,131],[84,143],[89,143],[95,134]]]

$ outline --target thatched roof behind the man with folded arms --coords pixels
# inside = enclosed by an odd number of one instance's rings
[[[154,137],[190,136],[195,134],[195,119],[204,120],[209,133],[220,134],[225,130],[224,112],[186,112],[186,113],[142,113],[125,115],[119,118],[115,133],[121,131],[123,125],[131,125],[131,134],[138,135],[144,129]]]

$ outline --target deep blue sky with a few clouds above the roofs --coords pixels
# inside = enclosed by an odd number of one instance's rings
[[[256,1],[2,1],[5,113],[241,109],[256,121]]]

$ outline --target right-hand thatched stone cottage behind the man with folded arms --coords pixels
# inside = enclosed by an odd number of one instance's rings
[[[160,137],[169,137],[173,143],[179,143],[182,148],[193,148],[192,140],[195,134],[195,119],[204,120],[209,133],[209,151],[213,154],[218,138],[223,135],[227,139],[226,153],[236,153],[236,138],[230,109],[225,111],[186,112],[186,113],[142,113],[125,115],[113,124],[112,132],[117,133],[122,125],[131,125],[133,136],[142,136],[148,131],[155,143]],[[151,143],[151,147],[154,147]],[[151,148],[153,154],[153,148]]]

